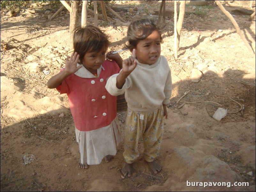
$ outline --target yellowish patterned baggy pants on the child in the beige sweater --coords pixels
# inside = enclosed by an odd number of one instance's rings
[[[139,157],[139,138],[143,138],[144,158],[152,162],[159,156],[160,144],[163,137],[163,107],[162,105],[151,112],[137,112],[127,109],[124,159],[133,163]]]

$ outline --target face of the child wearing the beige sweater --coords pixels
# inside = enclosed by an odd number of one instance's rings
[[[146,39],[140,40],[135,50],[136,58],[140,63],[153,65],[161,54],[161,41],[158,31],[153,31]]]

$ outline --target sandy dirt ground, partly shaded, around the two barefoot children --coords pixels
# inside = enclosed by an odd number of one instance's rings
[[[255,1],[252,9],[249,1],[221,2],[255,53],[255,17],[248,21],[244,13],[255,11]],[[129,22],[157,17],[160,4],[116,1],[113,10],[127,22],[110,12],[109,22],[98,20],[110,35],[109,50],[123,48]],[[162,55],[173,91],[156,159],[162,170],[154,174],[145,164],[141,140],[130,178],[121,173],[123,143],[109,163],[78,167],[67,96],[46,85],[71,55],[68,11],[48,19],[57,9],[1,14],[1,191],[255,191],[255,55],[218,6],[187,1],[175,58],[174,1],[166,1]],[[227,111],[220,121],[213,118],[218,108]],[[118,113],[122,132],[125,115]]]

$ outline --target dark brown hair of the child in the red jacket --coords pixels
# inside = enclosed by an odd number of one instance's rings
[[[79,63],[82,63],[88,51],[100,51],[102,47],[105,47],[107,50],[109,47],[108,37],[109,36],[103,33],[98,27],[92,25],[76,27],[74,29],[73,47],[74,52],[77,52],[80,56]]]

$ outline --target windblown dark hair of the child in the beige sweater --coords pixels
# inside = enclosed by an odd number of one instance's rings
[[[139,40],[146,39],[154,31],[160,34],[160,41],[162,42],[162,27],[154,18],[139,18],[131,22],[127,30],[127,38],[129,45],[126,48],[136,47]]]

